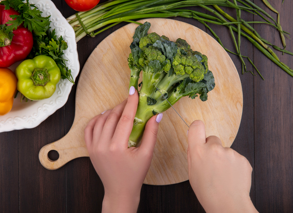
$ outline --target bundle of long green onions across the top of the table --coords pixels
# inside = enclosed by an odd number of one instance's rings
[[[265,54],[271,61],[280,66],[285,72],[293,76],[293,70],[285,63],[280,61],[275,50],[281,51],[283,54],[291,54],[292,52],[286,50],[285,36],[289,37],[290,33],[285,32],[280,24],[280,13],[271,6],[267,0],[263,0],[264,4],[273,12],[277,13],[277,20],[275,20],[270,14],[268,14],[263,8],[254,4],[250,0],[109,0],[98,4],[95,8],[87,12],[79,12],[73,16],[67,18],[67,21],[72,26],[76,35],[76,42],[81,38],[88,35],[95,37],[99,33],[121,23],[121,22],[132,22],[137,23],[136,20],[144,18],[168,18],[181,16],[185,18],[194,18],[200,23],[205,25],[214,37],[217,39],[219,44],[231,54],[239,56],[242,63],[242,74],[247,71],[245,59],[252,64],[256,72],[260,75],[259,70],[255,67],[252,60],[241,54],[241,37],[245,37],[250,41],[256,48]],[[182,7],[199,6],[207,11],[210,11],[212,15],[189,10],[180,9]],[[236,18],[226,13],[223,8],[234,8],[236,10]],[[241,12],[253,13],[260,16],[263,21],[246,21],[241,18]],[[208,25],[209,23],[216,25],[223,25],[229,29],[233,43],[235,45],[236,52],[232,52],[226,49],[220,38]],[[282,48],[273,45],[258,34],[253,28],[253,24],[267,24],[274,27],[280,32],[282,39]],[[235,34],[236,33],[236,37]],[[270,46],[273,48],[270,48]]]

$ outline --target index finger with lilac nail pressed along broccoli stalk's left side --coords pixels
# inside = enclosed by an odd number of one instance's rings
[[[138,92],[133,86],[131,86],[129,89],[127,104],[125,105],[124,111],[117,124],[117,128],[113,136],[113,138],[117,139],[114,140],[116,142],[120,143],[120,141],[124,141],[125,143],[122,144],[122,146],[124,147],[128,147],[128,139],[133,127],[133,121],[137,110],[137,104]]]

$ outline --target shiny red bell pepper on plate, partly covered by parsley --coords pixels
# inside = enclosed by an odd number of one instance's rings
[[[13,8],[4,9],[0,5],[0,67],[9,67],[17,61],[25,59],[33,48],[33,33],[23,25],[17,30],[5,32],[6,22],[12,20],[10,15],[19,15]]]

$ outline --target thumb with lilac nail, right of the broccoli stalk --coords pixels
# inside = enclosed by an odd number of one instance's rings
[[[139,152],[143,152],[147,155],[154,153],[154,148],[157,141],[157,134],[159,129],[159,123],[162,120],[163,114],[157,114],[151,117],[146,124],[144,134],[142,136],[142,144],[139,147]]]

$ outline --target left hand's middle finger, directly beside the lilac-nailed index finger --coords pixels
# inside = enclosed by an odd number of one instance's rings
[[[101,134],[101,138],[103,140],[109,141],[112,139],[117,127],[117,123],[122,115],[122,112],[125,108],[126,103],[127,103],[127,99],[125,99],[122,103],[115,106],[115,108],[109,114],[105,122],[105,125],[103,127],[103,132]]]

